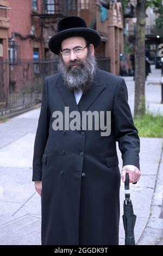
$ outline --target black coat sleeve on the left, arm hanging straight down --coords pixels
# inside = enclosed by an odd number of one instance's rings
[[[41,180],[42,176],[42,155],[44,153],[48,132],[50,112],[48,108],[48,88],[47,79],[45,78],[43,83],[42,103],[39,122],[36,131],[35,143],[34,143],[34,155],[33,155],[33,177],[32,180]]]

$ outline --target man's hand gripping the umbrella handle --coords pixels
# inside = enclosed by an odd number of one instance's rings
[[[140,170],[136,166],[123,166],[121,173],[123,182],[126,180],[126,173],[129,174],[129,182],[135,183],[140,179]]]

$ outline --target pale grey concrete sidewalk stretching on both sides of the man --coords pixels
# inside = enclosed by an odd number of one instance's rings
[[[163,114],[160,104],[160,70],[146,82],[149,109]],[[133,111],[134,82],[127,77],[129,104]],[[148,84],[150,83],[150,84]],[[151,84],[152,83],[152,84]],[[0,245],[40,245],[40,196],[32,182],[33,145],[40,109],[34,109],[0,124]],[[135,240],[138,245],[163,245],[163,169],[162,139],[141,138],[141,179],[130,185],[137,215]],[[120,169],[121,154],[118,150]],[[121,216],[124,184],[121,184]],[[122,217],[120,244],[124,244]]]

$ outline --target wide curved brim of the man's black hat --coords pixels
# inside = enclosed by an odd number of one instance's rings
[[[91,28],[70,28],[65,29],[55,35],[48,42],[49,49],[55,53],[59,54],[61,48],[61,42],[66,38],[71,38],[72,36],[82,36],[87,39],[90,44],[93,44],[96,48],[101,42],[101,36],[97,31]]]

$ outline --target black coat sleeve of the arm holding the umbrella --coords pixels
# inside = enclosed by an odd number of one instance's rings
[[[122,153],[123,166],[132,164],[140,169],[140,139],[128,105],[127,86],[123,78],[118,82],[114,102],[115,137]]]

